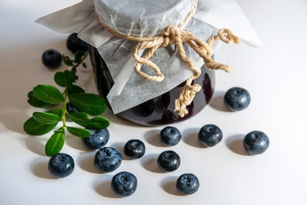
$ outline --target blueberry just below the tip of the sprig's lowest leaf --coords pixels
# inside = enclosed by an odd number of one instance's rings
[[[48,162],[48,170],[56,178],[67,177],[75,167],[74,159],[63,153],[54,154]]]

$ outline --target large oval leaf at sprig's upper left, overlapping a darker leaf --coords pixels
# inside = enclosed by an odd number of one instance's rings
[[[49,102],[51,104],[58,104],[64,102],[64,96],[59,90],[51,85],[38,85],[33,88],[33,96],[41,101]]]

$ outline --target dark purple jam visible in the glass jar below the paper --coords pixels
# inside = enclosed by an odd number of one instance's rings
[[[107,94],[114,84],[111,74],[95,47],[89,45],[89,54],[94,68],[98,92],[106,99]],[[165,125],[186,120],[199,113],[211,100],[215,85],[214,71],[203,69],[201,76],[195,79],[194,83],[200,84],[202,90],[196,93],[193,102],[187,106],[189,113],[184,117],[180,117],[177,112],[174,112],[174,102],[178,98],[184,82],[161,96],[143,102],[116,115],[138,124],[150,126]],[[111,109],[109,103],[108,107]]]

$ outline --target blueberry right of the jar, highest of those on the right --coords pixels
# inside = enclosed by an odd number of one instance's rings
[[[244,88],[231,88],[224,96],[224,103],[231,111],[243,110],[249,106],[250,102],[250,93]]]

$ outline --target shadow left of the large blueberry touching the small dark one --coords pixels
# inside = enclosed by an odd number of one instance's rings
[[[94,174],[102,174],[100,170],[95,167],[94,158],[97,151],[81,153],[78,157],[78,165],[81,169],[94,173]]]

